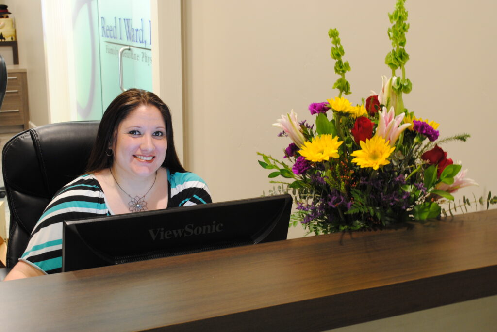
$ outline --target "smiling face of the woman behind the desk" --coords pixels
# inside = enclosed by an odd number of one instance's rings
[[[147,177],[166,158],[166,124],[159,109],[141,105],[117,128],[113,168],[122,176]]]

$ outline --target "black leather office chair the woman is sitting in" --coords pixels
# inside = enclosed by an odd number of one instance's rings
[[[54,194],[83,174],[99,124],[77,121],[32,128],[3,147],[10,231],[0,280],[24,253],[33,227]]]

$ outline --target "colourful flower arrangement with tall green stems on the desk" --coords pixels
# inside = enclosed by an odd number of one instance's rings
[[[272,170],[269,178],[288,179],[272,182],[293,193],[297,207],[291,224],[300,221],[309,232],[320,234],[439,217],[447,215],[442,203],[449,204],[451,214],[457,208],[451,205],[453,193],[476,185],[440,147],[450,140],[465,142],[470,135],[441,139],[438,123],[418,118],[404,106],[403,94],[413,87],[406,77],[409,24],[404,2],[397,0],[389,13],[393,49],[385,63],[392,75],[382,77],[379,93],[371,91],[356,105],[343,96],[351,93],[345,79],[350,65],[342,60],[345,53],[338,31],[330,29],[331,58],[339,75],[333,89],[338,95],[309,105],[316,116],[314,125],[299,122],[293,110],[277,120],[273,126],[282,130],[278,136],[292,141],[283,160],[258,153],[263,159],[259,164]],[[483,198],[479,201],[483,203]],[[467,202],[464,198],[464,205]],[[497,198],[489,193],[486,202],[488,208]]]

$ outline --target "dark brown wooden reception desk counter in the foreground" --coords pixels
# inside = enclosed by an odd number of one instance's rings
[[[0,282],[2,331],[320,331],[497,294],[497,210]]]

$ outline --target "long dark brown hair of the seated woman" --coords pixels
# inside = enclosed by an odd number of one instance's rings
[[[117,96],[107,107],[100,121],[98,132],[86,166],[86,174],[95,173],[112,166],[114,154],[107,153],[114,146],[119,124],[131,111],[141,105],[153,105],[159,109],[166,124],[167,150],[162,164],[171,172],[184,172],[174,148],[171,113],[167,105],[155,93],[140,89],[129,89]]]

